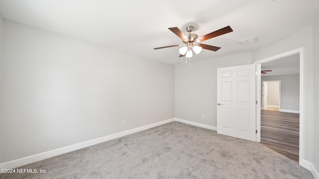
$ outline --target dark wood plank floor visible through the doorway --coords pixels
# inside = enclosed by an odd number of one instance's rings
[[[261,110],[261,144],[299,162],[299,114]]]

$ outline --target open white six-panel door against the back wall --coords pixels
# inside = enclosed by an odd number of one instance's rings
[[[256,66],[217,69],[217,133],[256,141]]]

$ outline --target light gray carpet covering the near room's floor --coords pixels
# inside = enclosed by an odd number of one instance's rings
[[[260,143],[179,122],[19,168],[47,173],[0,179],[314,179]]]

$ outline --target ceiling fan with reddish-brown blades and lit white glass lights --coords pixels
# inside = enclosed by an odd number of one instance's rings
[[[186,31],[188,32],[187,35],[185,35],[178,27],[170,27],[168,29],[172,31],[174,34],[176,34],[183,41],[184,44],[169,45],[164,47],[157,47],[154,49],[158,50],[158,49],[168,48],[168,47],[183,46],[182,48],[179,49],[179,53],[180,53],[179,57],[186,56],[187,58],[190,58],[193,56],[192,51],[194,51],[195,54],[199,54],[202,48],[216,52],[217,50],[220,49],[220,47],[202,44],[201,42],[233,31],[233,29],[231,29],[230,26],[227,26],[219,30],[216,30],[214,32],[211,32],[209,34],[198,37],[197,34],[191,33],[194,29],[192,25],[189,25],[186,27]]]

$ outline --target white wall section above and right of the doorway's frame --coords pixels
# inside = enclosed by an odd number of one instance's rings
[[[304,158],[313,162],[314,154],[314,51],[313,27],[288,35],[287,37],[252,52],[253,61],[262,60],[291,50],[305,47],[304,66]]]

